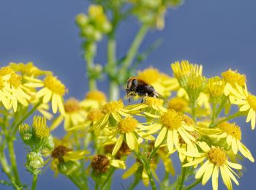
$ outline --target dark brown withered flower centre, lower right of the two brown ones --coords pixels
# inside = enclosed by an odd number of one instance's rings
[[[95,155],[91,161],[91,168],[99,173],[105,173],[108,171],[108,168],[110,167],[110,161],[107,156],[98,154]]]

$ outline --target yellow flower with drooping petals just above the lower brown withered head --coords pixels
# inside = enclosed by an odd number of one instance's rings
[[[118,122],[118,126],[114,127],[113,132],[110,133],[110,140],[118,135],[118,140],[113,148],[112,155],[116,155],[124,140],[127,142],[127,145],[132,151],[138,151],[139,145],[136,134],[146,140],[154,140],[155,138],[152,135],[150,135],[148,132],[144,132],[147,129],[150,129],[150,127],[143,126],[138,122],[138,120],[132,118],[131,116],[121,119]]]

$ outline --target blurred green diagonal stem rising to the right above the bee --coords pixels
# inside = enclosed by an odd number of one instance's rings
[[[124,62],[122,63],[122,67],[118,72],[118,75],[120,75],[121,77],[126,76],[125,74],[127,73],[127,69],[129,69],[129,66],[132,64],[132,61],[134,60],[138,52],[141,42],[143,41],[144,37],[146,37],[148,28],[149,27],[146,24],[140,27],[140,30],[138,31],[138,34],[133,40],[132,45],[129,47],[129,51],[126,58],[124,59]]]

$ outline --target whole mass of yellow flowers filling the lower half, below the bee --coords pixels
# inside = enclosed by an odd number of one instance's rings
[[[171,68],[174,77],[152,67],[139,71],[136,78],[154,86],[160,97],[145,96],[141,103],[125,104],[124,99],[108,101],[97,90],[83,100],[64,101],[67,88],[52,72],[32,63],[2,67],[1,107],[3,114],[17,117],[12,127],[19,130],[29,151],[26,169],[37,175],[51,160],[56,175],[80,181],[79,188],[88,188],[88,178],[105,188],[116,169],[126,170],[125,162],[136,158],[122,178],[135,176],[131,188],[140,180],[154,188],[154,178],[160,183],[159,162],[164,163],[165,176],[175,175],[172,156],[178,153],[182,173],[173,184],[177,188],[185,188],[184,181],[195,175],[196,184],[204,185],[211,178],[213,189],[218,189],[219,173],[227,189],[232,189],[231,181],[238,185],[235,170],[242,169],[241,156],[255,161],[243,143],[242,129],[229,122],[246,115],[246,122],[255,128],[256,98],[246,88],[245,75],[230,69],[207,78],[203,66],[189,61],[176,61]],[[230,107],[237,111],[231,113]],[[20,113],[26,113],[26,119],[35,110],[43,116],[34,116],[31,125],[24,119],[18,123]],[[62,123],[67,134],[58,140],[50,131]]]

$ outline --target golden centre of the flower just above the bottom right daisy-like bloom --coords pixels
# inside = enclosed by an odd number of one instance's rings
[[[218,124],[219,129],[222,129],[227,134],[230,134],[236,140],[241,140],[241,129],[236,123],[223,122]]]

